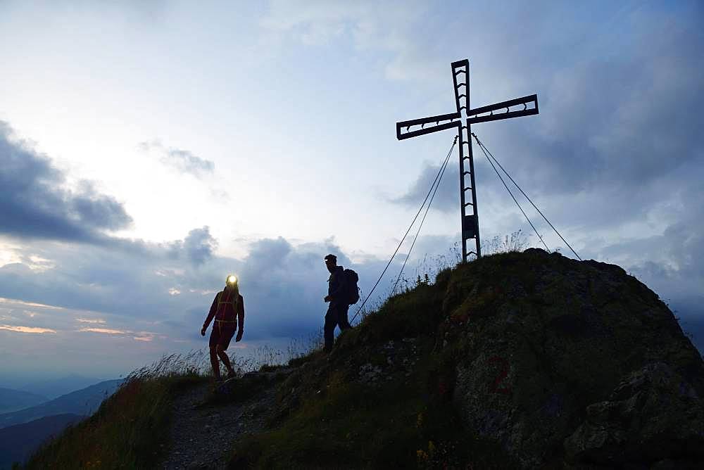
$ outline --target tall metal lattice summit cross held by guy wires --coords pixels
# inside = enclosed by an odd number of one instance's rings
[[[465,74],[464,82],[460,82],[458,75]],[[496,121],[500,119],[518,118],[538,114],[538,95],[533,94],[523,98],[503,101],[501,103],[482,106],[481,108],[470,109],[470,61],[457,61],[452,63],[452,80],[455,84],[455,113],[430,116],[429,118],[413,119],[410,121],[396,122],[396,137],[398,140],[410,139],[410,137],[430,134],[445,129],[456,128],[460,136],[460,210],[462,212],[462,259],[467,261],[470,254],[482,256],[482,248],[479,246],[479,215],[477,213],[477,191],[474,189],[474,157],[472,155],[472,130],[470,126],[477,122]],[[462,89],[464,87],[464,89]],[[511,110],[516,106],[523,106],[522,109]],[[531,107],[529,107],[531,106]],[[503,113],[496,113],[496,110],[503,110]],[[465,125],[462,125],[462,113],[465,110]],[[411,129],[418,127],[420,129]],[[465,156],[465,145],[467,155]],[[470,160],[470,170],[465,171],[465,160]],[[465,186],[465,175],[470,175],[470,185]],[[472,190],[472,201],[466,202],[465,193],[467,189]],[[472,206],[472,213],[467,214],[467,206]],[[474,239],[476,251],[467,252],[467,240]]]

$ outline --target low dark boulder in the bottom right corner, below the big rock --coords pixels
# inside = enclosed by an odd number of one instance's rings
[[[586,407],[565,450],[570,462],[614,466],[677,457],[684,465],[704,460],[703,436],[700,396],[670,366],[655,362],[624,378],[608,401]]]

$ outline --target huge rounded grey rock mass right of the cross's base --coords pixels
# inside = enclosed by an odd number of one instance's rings
[[[704,462],[704,363],[623,269],[532,248],[460,266],[436,349],[465,424],[527,468]]]

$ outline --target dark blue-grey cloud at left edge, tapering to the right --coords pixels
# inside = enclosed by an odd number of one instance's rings
[[[101,241],[103,230],[132,222],[112,196],[82,182],[65,189],[65,175],[0,121],[0,233],[23,238]]]

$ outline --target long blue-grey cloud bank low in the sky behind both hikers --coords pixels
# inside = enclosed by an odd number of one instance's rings
[[[365,296],[386,265],[386,260],[374,257],[352,263],[332,239],[294,246],[282,238],[252,241],[249,255],[242,259],[209,252],[196,265],[187,258],[188,239],[196,241],[196,247],[214,242],[203,227],[190,231],[183,240],[163,244],[25,246],[23,253],[48,262],[37,269],[29,258],[23,258],[0,267],[0,297],[104,312],[124,317],[126,322],[145,320],[156,324],[150,327],[156,334],[192,340],[197,339],[194,335],[215,292],[223,288],[225,276],[234,273],[245,298],[246,339],[297,338],[322,326],[327,310],[322,300],[329,277],[323,260],[327,253],[337,254],[339,265],[358,272]],[[422,240],[418,246],[425,249],[442,244],[443,240]],[[175,246],[180,250],[176,256]],[[200,248],[195,251],[202,255]],[[389,295],[402,261],[398,255],[367,308],[379,305]],[[418,272],[426,270],[427,265],[414,259],[406,267],[405,277],[415,279]],[[355,307],[351,316],[354,312]]]

